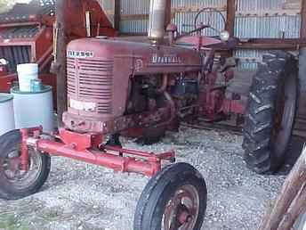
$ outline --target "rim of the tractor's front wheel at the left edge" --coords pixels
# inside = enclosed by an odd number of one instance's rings
[[[28,170],[20,169],[20,144],[9,152],[3,160],[4,180],[18,190],[26,189],[33,185],[42,170],[43,161],[33,148],[28,148]]]

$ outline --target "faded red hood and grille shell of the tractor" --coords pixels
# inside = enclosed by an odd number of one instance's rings
[[[77,58],[77,55],[83,55],[82,51],[90,56]],[[173,63],[154,63],[153,56],[176,59]],[[76,59],[71,60],[74,57]],[[196,51],[96,38],[71,42],[68,45],[68,58],[68,96],[87,103],[99,103],[101,111],[110,111],[115,117],[125,112],[128,82],[133,75],[201,70]],[[103,65],[99,66],[101,62]],[[99,86],[91,85],[93,83]],[[85,114],[98,116],[99,113],[88,111]]]

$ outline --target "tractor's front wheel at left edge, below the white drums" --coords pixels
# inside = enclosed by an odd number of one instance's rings
[[[50,173],[50,156],[28,147],[28,170],[20,169],[19,130],[0,136],[0,198],[17,200],[36,193]]]

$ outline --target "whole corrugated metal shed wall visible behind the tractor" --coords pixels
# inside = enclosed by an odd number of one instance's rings
[[[103,8],[113,21],[114,1],[100,0]],[[237,0],[235,36],[247,38],[296,38],[300,36],[301,14],[299,7],[288,7],[286,2],[300,0]],[[203,7],[221,10],[226,17],[227,0],[172,0],[173,23],[180,32],[188,31],[194,24],[197,11]],[[148,30],[149,0],[121,0],[120,31],[122,33],[143,34]],[[207,21],[203,14],[200,21]],[[213,14],[213,26],[224,27],[221,16]],[[213,36],[213,30],[207,30]],[[235,56],[240,60],[241,69],[254,69],[261,60],[260,50],[237,50]]]

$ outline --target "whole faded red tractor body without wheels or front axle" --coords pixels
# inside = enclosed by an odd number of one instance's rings
[[[210,121],[231,111],[243,113],[245,104],[240,98],[225,94],[233,77],[231,65],[227,67],[227,62],[215,56],[215,50],[229,49],[235,43],[204,37],[201,29],[197,36],[173,36],[173,45],[116,38],[70,42],[66,127],[109,135],[167,127],[174,119],[199,113]],[[180,78],[189,88],[177,88]],[[222,79],[220,83],[217,78]]]

